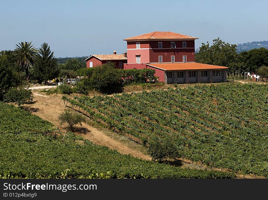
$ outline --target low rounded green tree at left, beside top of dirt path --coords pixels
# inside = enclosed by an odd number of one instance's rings
[[[25,104],[26,102],[30,102],[32,100],[33,100],[32,90],[26,89],[23,86],[12,87],[4,95],[5,102],[14,102],[19,107],[21,106],[21,104]]]

